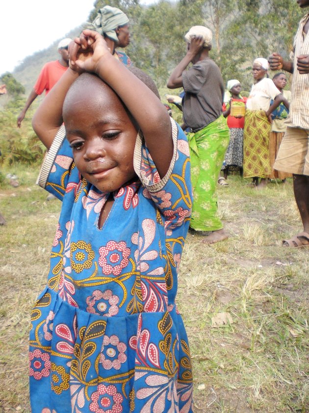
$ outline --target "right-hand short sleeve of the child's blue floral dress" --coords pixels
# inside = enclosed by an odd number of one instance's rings
[[[165,177],[160,178],[142,135],[138,135],[134,150],[134,170],[145,186],[143,194],[153,200],[170,228],[188,219],[192,207],[189,145],[172,118],[171,123],[174,151]]]

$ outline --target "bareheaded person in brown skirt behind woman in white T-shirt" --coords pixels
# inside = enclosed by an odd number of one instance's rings
[[[292,177],[292,174],[289,174],[288,172],[277,171],[276,169],[274,169],[274,163],[278,155],[278,151],[282,142],[284,132],[286,131],[285,119],[287,118],[289,113],[289,102],[291,100],[291,92],[290,90],[283,90],[287,83],[287,79],[284,73],[276,73],[273,77],[273,82],[285,97],[286,107],[283,103],[281,103],[271,114],[273,123],[271,124],[271,132],[269,135],[269,161],[271,167],[271,174],[269,175],[269,178],[279,178],[282,179],[282,183],[285,183],[286,178]],[[273,100],[270,101],[271,105],[272,103]]]

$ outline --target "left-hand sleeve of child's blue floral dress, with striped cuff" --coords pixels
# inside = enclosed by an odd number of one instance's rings
[[[60,126],[51,148],[46,152],[36,183],[61,201],[66,192],[77,193],[80,174],[66,140],[64,125]]]

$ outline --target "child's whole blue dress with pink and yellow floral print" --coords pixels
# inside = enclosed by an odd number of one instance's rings
[[[138,178],[109,194],[80,177],[61,127],[38,183],[62,201],[48,284],[31,316],[32,413],[192,412],[188,341],[175,305],[191,214],[189,148],[160,179],[138,136]]]

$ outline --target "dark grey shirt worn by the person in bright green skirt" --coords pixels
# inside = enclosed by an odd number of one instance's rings
[[[206,58],[182,72],[185,95],[183,120],[193,132],[203,129],[222,114],[224,83],[219,67]]]

